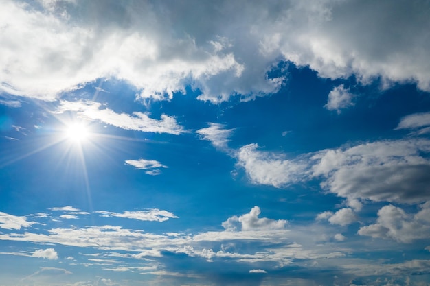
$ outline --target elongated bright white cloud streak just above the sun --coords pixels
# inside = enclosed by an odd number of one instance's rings
[[[142,112],[133,112],[133,115],[116,113],[109,108],[102,108],[98,102],[67,102],[61,101],[56,112],[75,111],[83,119],[98,120],[112,126],[126,130],[137,130],[142,132],[168,133],[179,135],[183,127],[177,124],[174,117],[161,115],[161,119],[152,119]]]

